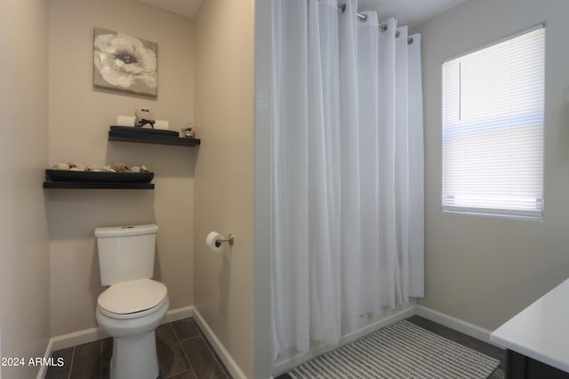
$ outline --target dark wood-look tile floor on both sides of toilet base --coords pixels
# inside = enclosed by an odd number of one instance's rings
[[[157,327],[156,351],[159,379],[231,377],[194,319],[181,319]],[[64,365],[49,367],[45,378],[108,378],[112,353],[112,338],[53,351],[52,357],[62,358]]]

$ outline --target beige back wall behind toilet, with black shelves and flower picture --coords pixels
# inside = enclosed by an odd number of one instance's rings
[[[92,29],[158,44],[158,97],[92,87]],[[180,130],[194,121],[193,31],[187,18],[132,0],[49,1],[49,161],[144,164],[155,190],[49,189],[52,336],[97,327],[100,286],[93,230],[156,222],[156,278],[171,309],[193,304],[194,167],[197,148],[108,141],[118,115],[148,107]],[[45,122],[47,125],[47,122]],[[199,131],[198,131],[199,133]]]

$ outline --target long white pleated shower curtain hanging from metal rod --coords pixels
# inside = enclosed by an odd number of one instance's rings
[[[421,38],[364,14],[273,1],[273,359],[423,295]]]

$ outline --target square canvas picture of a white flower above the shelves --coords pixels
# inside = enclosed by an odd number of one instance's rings
[[[93,31],[92,84],[156,96],[158,45],[104,28]]]

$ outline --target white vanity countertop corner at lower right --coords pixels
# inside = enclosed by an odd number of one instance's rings
[[[569,372],[569,278],[494,330],[490,341]]]

